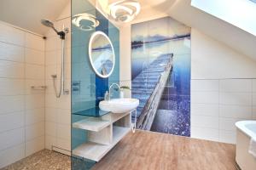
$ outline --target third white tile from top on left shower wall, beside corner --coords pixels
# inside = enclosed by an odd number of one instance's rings
[[[26,64],[26,78],[44,80],[44,66]]]

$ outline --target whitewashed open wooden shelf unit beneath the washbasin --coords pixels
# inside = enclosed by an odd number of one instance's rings
[[[115,144],[131,131],[131,112],[89,117],[74,122],[73,127],[88,130],[88,142],[75,148],[73,155],[100,161]]]

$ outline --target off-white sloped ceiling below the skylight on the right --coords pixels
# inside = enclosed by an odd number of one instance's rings
[[[143,10],[158,10],[256,60],[256,37],[190,5],[191,0],[140,0]],[[193,38],[193,37],[192,37]]]

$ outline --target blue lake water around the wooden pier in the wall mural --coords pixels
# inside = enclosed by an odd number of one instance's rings
[[[161,54],[173,54],[173,68],[151,130],[190,136],[190,38],[132,48],[132,80]]]

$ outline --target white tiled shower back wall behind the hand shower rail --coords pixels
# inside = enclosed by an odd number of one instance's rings
[[[62,26],[71,31],[71,6],[64,8],[62,14],[55,21],[57,30]],[[53,79],[51,75],[57,74],[57,90],[60,87],[61,75],[61,39],[56,33],[50,30],[46,34],[45,43],[45,83],[48,87],[45,92],[45,148],[58,150],[64,154],[70,154],[71,150],[71,32],[66,37],[65,54],[65,89],[69,94],[61,95],[60,99],[55,97]],[[69,151],[67,151],[69,150]]]

